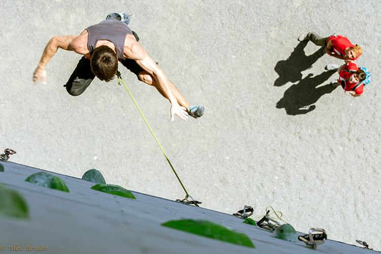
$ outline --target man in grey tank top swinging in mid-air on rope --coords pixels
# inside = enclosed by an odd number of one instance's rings
[[[110,14],[111,15],[111,14]],[[94,76],[106,82],[114,79],[118,61],[137,75],[138,79],[154,86],[171,103],[171,120],[177,115],[184,121],[188,115],[195,118],[204,114],[203,106],[190,106],[164,72],[137,42],[139,38],[121,20],[109,19],[87,27],[79,36],[53,37],[45,47],[33,81],[46,83],[45,66],[58,48],[84,55],[65,85],[72,96],[78,96],[90,85]],[[115,16],[115,15],[114,15]]]

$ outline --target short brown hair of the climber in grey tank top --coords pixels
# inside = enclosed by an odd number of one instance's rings
[[[90,66],[97,78],[109,82],[115,78],[118,71],[118,58],[114,50],[102,45],[92,52]]]

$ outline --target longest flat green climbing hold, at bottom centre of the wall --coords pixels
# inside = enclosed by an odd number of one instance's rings
[[[255,248],[254,244],[252,244],[251,240],[245,234],[229,230],[222,225],[212,223],[208,220],[170,220],[166,223],[162,223],[162,225],[219,241]]]

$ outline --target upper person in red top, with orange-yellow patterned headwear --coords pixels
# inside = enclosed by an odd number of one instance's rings
[[[308,33],[298,38],[300,42],[305,40],[313,42],[316,46],[326,47],[327,54],[345,60],[346,63],[356,60],[363,53],[359,45],[353,45],[350,40],[341,35],[323,38],[316,33]]]

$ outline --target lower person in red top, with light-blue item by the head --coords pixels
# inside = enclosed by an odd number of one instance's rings
[[[339,78],[331,82],[332,86],[341,85],[344,91],[350,91],[353,97],[358,97],[363,93],[364,85],[362,81],[365,80],[366,74],[357,67],[356,63],[349,62],[342,66],[330,63],[328,66],[330,66],[331,70],[337,69],[339,73]]]

